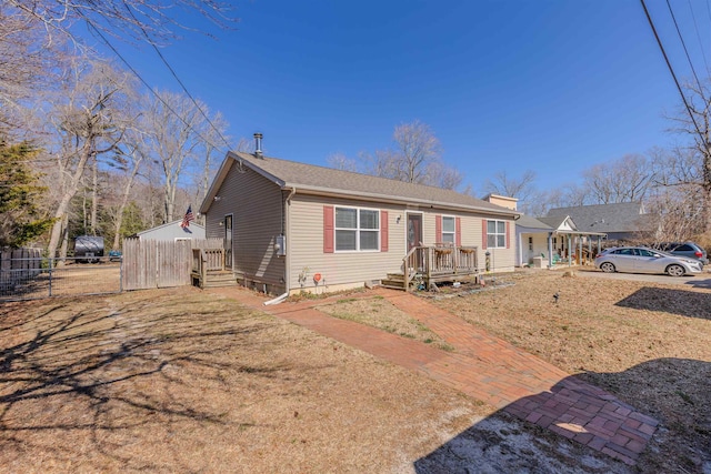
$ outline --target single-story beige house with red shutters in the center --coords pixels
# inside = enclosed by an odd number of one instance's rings
[[[382,281],[419,245],[477,248],[480,269],[487,252],[491,271],[514,269],[515,211],[261,152],[228,153],[200,212],[207,236],[226,240],[237,279],[269,293]]]

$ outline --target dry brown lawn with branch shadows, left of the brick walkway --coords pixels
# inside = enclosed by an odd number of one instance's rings
[[[390,472],[492,412],[194,289],[0,305],[2,472]]]

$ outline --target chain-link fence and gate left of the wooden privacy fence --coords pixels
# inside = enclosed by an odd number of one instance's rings
[[[0,302],[121,292],[121,258],[48,259],[34,251],[0,252]]]

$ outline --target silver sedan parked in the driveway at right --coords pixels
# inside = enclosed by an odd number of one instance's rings
[[[617,246],[604,250],[595,258],[595,268],[608,273],[667,273],[671,276],[703,271],[703,265],[698,260],[674,256],[644,246]]]

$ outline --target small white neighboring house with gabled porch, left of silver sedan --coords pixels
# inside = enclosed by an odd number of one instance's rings
[[[570,215],[521,215],[515,225],[515,264],[552,268],[557,263],[580,263],[581,255],[587,254],[589,260],[599,252],[604,238],[602,232],[579,229]]]

